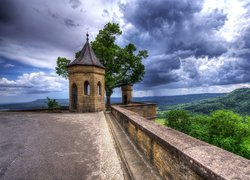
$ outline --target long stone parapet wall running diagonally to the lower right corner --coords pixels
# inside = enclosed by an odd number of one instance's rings
[[[250,161],[112,106],[111,112],[163,179],[250,179]]]

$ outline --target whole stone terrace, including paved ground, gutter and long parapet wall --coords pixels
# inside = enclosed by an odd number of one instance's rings
[[[141,112],[0,113],[0,179],[250,179],[249,160]]]

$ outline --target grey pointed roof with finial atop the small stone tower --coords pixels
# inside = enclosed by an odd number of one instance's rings
[[[80,66],[96,66],[105,69],[105,67],[102,65],[102,63],[100,63],[93,49],[91,48],[88,36],[89,35],[87,34],[87,41],[81,50],[80,56],[76,58],[74,61],[72,61],[68,65],[68,67],[74,65],[80,65]]]

